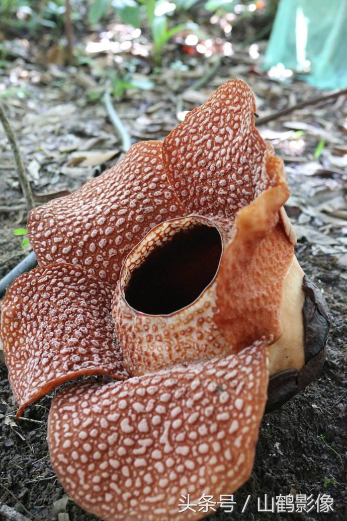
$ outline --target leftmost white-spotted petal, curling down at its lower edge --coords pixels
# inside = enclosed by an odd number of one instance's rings
[[[67,380],[127,378],[111,299],[107,282],[70,264],[34,269],[11,284],[1,302],[0,332],[17,416]]]

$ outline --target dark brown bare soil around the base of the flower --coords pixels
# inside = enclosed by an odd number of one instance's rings
[[[222,510],[217,510],[208,517],[209,521],[347,519],[345,280],[340,277],[338,265],[331,264],[330,257],[313,258],[304,244],[299,245],[297,253],[306,273],[323,289],[330,307],[332,324],[328,359],[318,380],[280,410],[264,417],[254,469],[249,481],[235,493],[237,505],[234,513],[225,514]],[[0,493],[0,501],[14,506],[23,514],[24,505],[31,514],[43,521],[55,519],[52,505],[64,492],[50,468],[46,443],[46,420],[52,394],[29,406],[23,419],[6,425],[9,416],[15,414],[16,407],[5,366],[0,370],[0,413],[4,415],[0,424],[0,485],[4,487]],[[264,493],[271,498],[290,492],[307,496],[313,494],[314,499],[319,493],[330,494],[334,500],[334,512],[258,512],[257,498],[263,501]],[[247,511],[241,514],[249,494],[251,499]],[[68,502],[67,512],[70,521],[96,519],[72,501]]]

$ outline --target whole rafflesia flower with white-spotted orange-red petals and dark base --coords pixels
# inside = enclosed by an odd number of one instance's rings
[[[323,363],[324,301],[294,256],[284,166],[254,110],[228,81],[163,143],[29,214],[40,267],[2,303],[9,380],[20,415],[67,380],[113,379],[65,388],[48,420],[57,476],[102,519],[176,519],[182,495],[233,493],[266,400]]]

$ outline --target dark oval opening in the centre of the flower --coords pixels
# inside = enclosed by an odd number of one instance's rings
[[[213,226],[178,230],[157,245],[132,272],[124,295],[148,315],[169,315],[194,302],[213,280],[222,255],[222,239]]]

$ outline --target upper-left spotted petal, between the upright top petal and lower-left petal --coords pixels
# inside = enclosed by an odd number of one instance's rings
[[[186,215],[165,175],[162,143],[136,143],[107,172],[29,214],[38,263],[66,262],[113,287],[126,255],[154,226]]]

